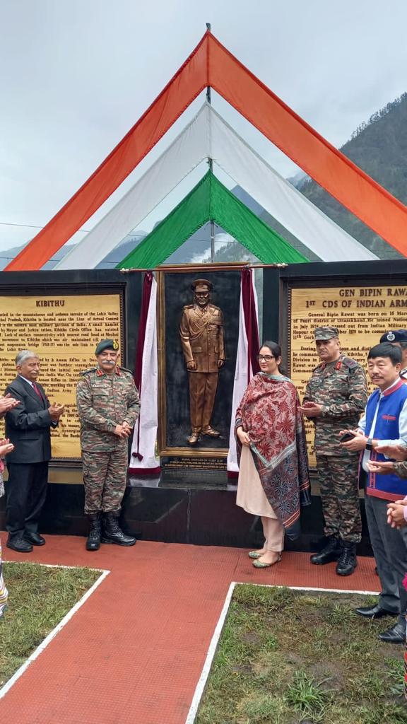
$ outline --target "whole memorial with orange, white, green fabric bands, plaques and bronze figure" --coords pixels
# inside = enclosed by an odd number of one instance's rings
[[[344,351],[362,364],[382,332],[407,327],[407,261],[377,260],[282,179],[214,111],[211,88],[407,256],[406,206],[298,117],[209,29],[112,153],[0,274],[0,384],[14,374],[16,350],[34,348],[42,359],[41,382],[66,408],[52,439],[45,532],[86,530],[74,390],[78,372],[93,363],[98,340],[120,340],[122,363],[135,371],[141,395],[124,501],[129,532],[256,547],[256,523],[235,506],[231,428],[256,373],[259,340],[280,342],[301,394],[317,363],[314,327],[338,327]],[[40,271],[204,91],[196,116],[117,206],[56,271]],[[118,269],[96,270],[202,161],[209,171]],[[225,188],[217,164],[277,219],[290,241]],[[206,222],[212,238],[217,224],[259,259],[261,329],[247,264],[163,266]],[[307,263],[316,257],[323,262]],[[311,428],[309,452],[312,462]],[[299,548],[314,548],[322,532],[317,493],[314,486]]]

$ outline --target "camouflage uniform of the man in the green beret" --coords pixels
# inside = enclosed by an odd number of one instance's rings
[[[77,383],[77,413],[85,485],[85,513],[120,510],[127,480],[128,443],[114,434],[117,424],[133,427],[140,405],[133,374],[117,367],[105,374],[94,367]]]

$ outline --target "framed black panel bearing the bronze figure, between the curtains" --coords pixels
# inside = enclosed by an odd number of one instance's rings
[[[239,334],[240,269],[159,271],[159,454],[226,457],[229,447],[232,394]],[[194,282],[211,285],[206,306],[199,307]],[[188,350],[196,369],[187,369]],[[206,355],[206,350],[209,350]],[[219,360],[220,366],[217,366]],[[203,372],[201,372],[203,370]],[[198,374],[196,374],[198,372]],[[197,386],[196,405],[191,384]],[[215,379],[216,378],[216,379]],[[214,383],[216,393],[209,387]],[[212,397],[211,397],[212,395]],[[192,400],[192,402],[191,402]],[[209,408],[208,421],[218,435],[203,434],[190,442],[199,405]],[[204,417],[204,416],[203,416]]]

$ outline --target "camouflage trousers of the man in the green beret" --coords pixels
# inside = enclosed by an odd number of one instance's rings
[[[120,510],[127,481],[127,445],[109,452],[82,451],[85,513]]]

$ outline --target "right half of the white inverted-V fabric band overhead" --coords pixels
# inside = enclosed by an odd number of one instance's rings
[[[272,169],[213,109],[211,158],[322,261],[377,259]]]

